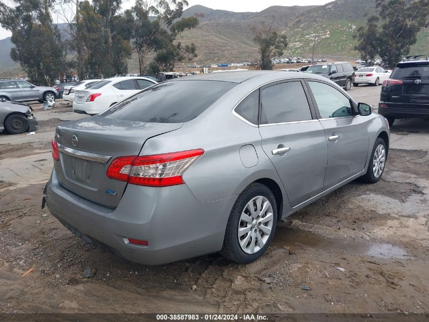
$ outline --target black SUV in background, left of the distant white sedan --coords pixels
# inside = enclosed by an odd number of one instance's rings
[[[344,87],[346,91],[351,89],[351,84],[356,76],[353,67],[347,62],[313,65],[306,70],[306,73],[329,78]]]

